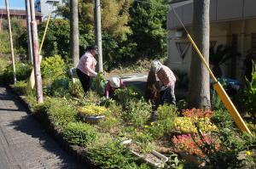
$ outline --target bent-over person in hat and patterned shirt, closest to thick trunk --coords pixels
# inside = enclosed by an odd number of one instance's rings
[[[159,60],[152,62],[151,70],[162,84],[162,87],[160,87],[160,104],[176,104],[174,94],[176,77],[172,70],[166,65],[162,65]]]

